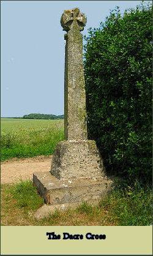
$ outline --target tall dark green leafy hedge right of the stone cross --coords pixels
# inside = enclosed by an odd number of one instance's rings
[[[116,7],[85,40],[88,137],[108,173],[151,180],[152,7]]]

